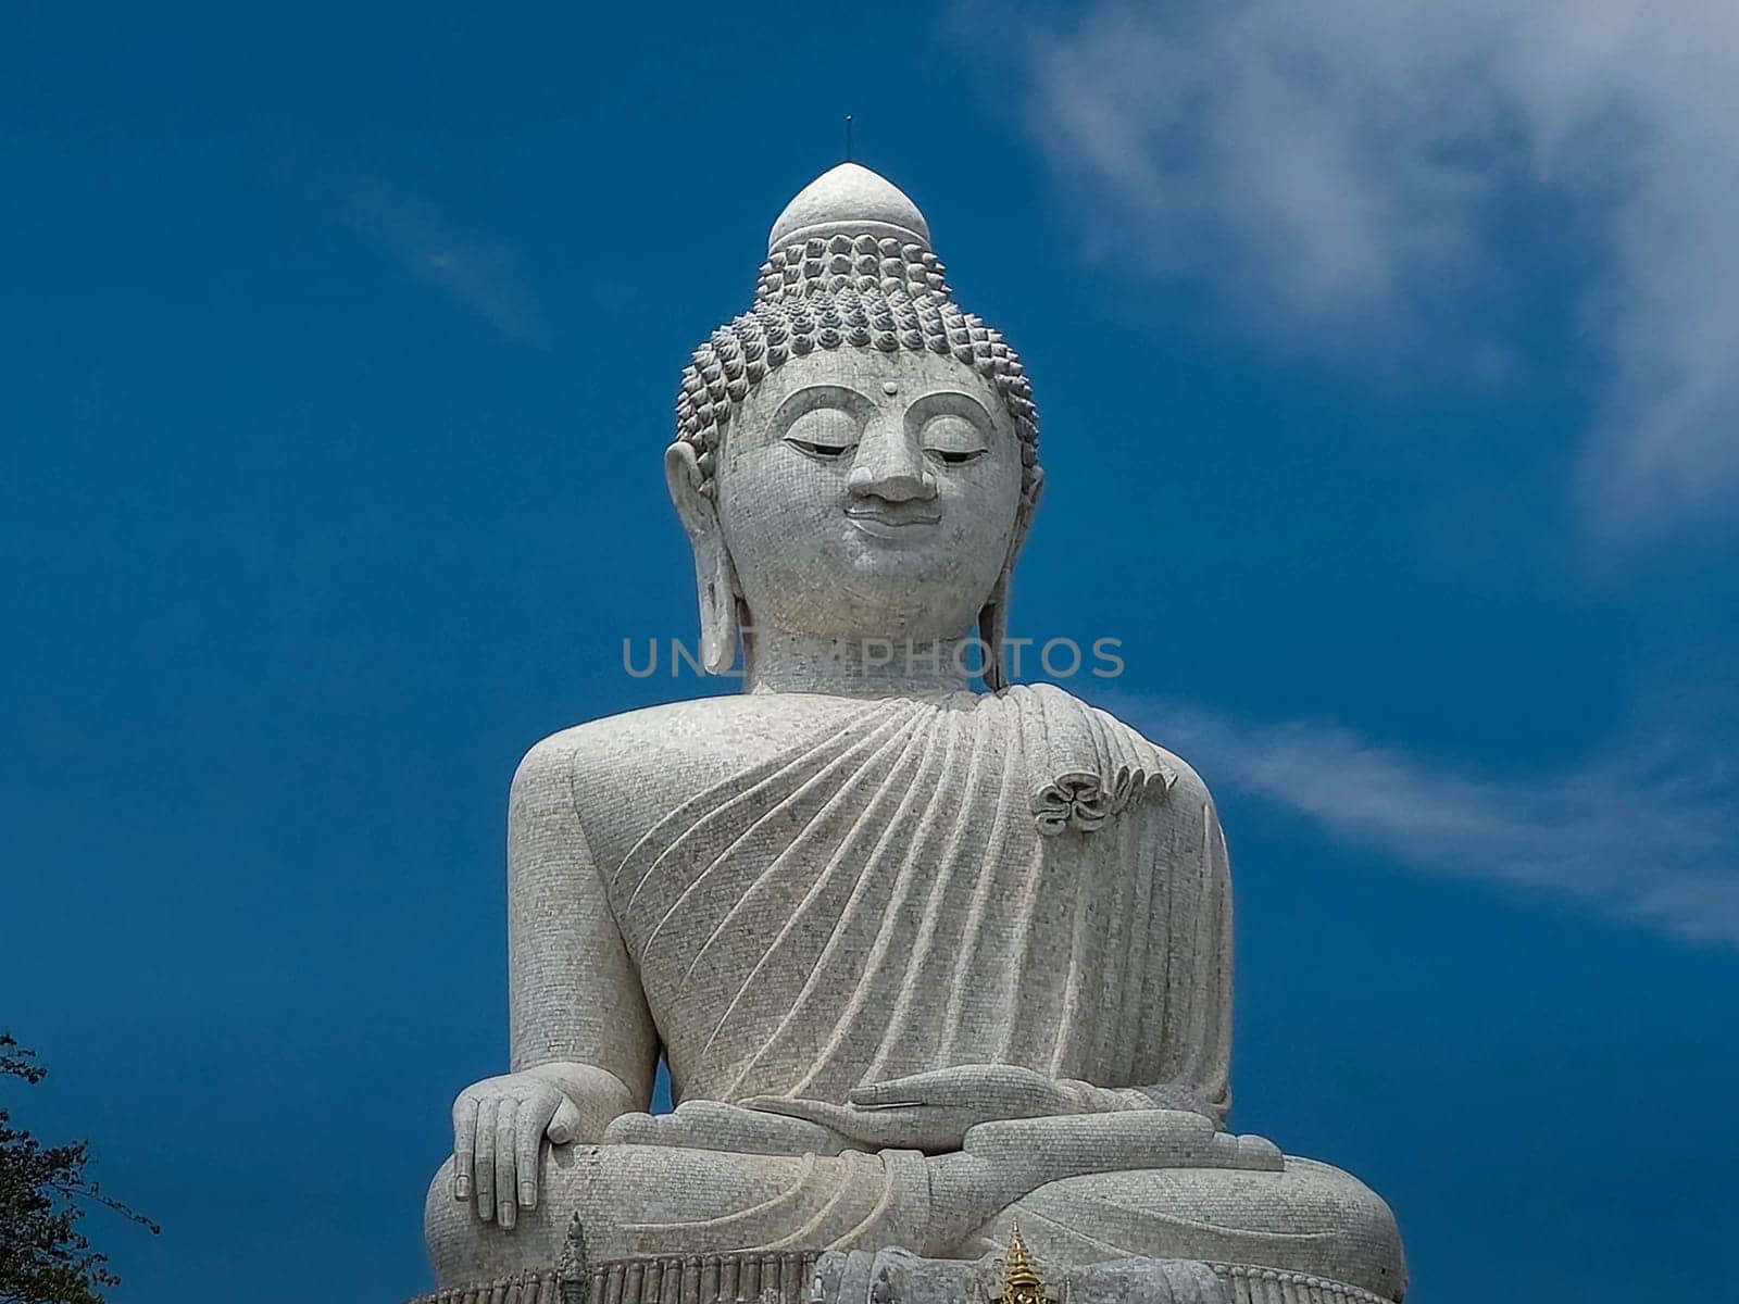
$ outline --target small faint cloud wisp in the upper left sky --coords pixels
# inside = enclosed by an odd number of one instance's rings
[[[511,250],[461,236],[430,200],[377,177],[351,181],[343,210],[356,231],[503,334],[548,339]]]

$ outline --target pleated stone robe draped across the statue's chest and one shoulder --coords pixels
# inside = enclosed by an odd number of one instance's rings
[[[661,819],[609,899],[678,1101],[1021,1064],[1224,1114],[1212,805],[1059,689],[866,701]]]

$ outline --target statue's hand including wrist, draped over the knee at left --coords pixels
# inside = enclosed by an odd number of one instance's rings
[[[543,1142],[598,1141],[633,1108],[628,1088],[591,1064],[541,1064],[483,1078],[452,1102],[452,1198],[510,1231],[537,1207]]]

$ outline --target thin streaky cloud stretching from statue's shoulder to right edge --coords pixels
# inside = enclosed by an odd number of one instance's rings
[[[1123,709],[1209,782],[1285,807],[1330,838],[1739,946],[1739,781],[1729,762],[1671,735],[1499,781],[1334,723],[1249,723],[1169,701]]]

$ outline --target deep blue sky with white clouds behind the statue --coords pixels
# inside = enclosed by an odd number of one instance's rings
[[[1035,377],[1017,631],[1219,793],[1233,1125],[1414,1299],[1739,1243],[1739,21],[1685,2],[14,9],[0,1026],[117,1299],[423,1288],[503,807],[697,690],[661,450],[857,153]],[[1103,685],[1101,685],[1103,687]]]

